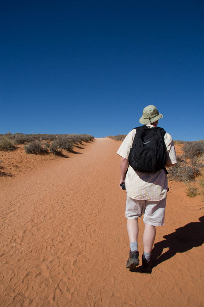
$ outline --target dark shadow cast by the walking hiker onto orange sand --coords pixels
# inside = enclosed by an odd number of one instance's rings
[[[154,244],[151,258],[152,267],[170,259],[176,253],[184,253],[193,247],[201,246],[204,243],[204,216],[199,218],[199,222],[191,222],[183,227],[179,227],[175,232],[163,236],[164,240]],[[168,251],[162,254],[163,249],[168,247]]]

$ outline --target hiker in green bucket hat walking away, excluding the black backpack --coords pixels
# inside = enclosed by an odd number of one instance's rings
[[[163,118],[157,108],[149,105],[144,108],[140,123],[150,127],[156,127],[158,120]],[[154,173],[142,173],[134,171],[129,165],[128,156],[136,134],[136,129],[131,130],[119,147],[117,154],[121,156],[121,178],[119,187],[123,183],[126,186],[127,201],[126,212],[127,232],[130,241],[130,252],[126,268],[134,268],[139,265],[138,252],[138,217],[143,216],[145,229],[143,232],[142,271],[149,272],[151,267],[151,251],[156,235],[155,226],[164,225],[164,214],[167,196],[167,175],[164,169]],[[170,167],[177,163],[176,152],[172,137],[166,133],[164,142],[167,150],[165,166]]]

